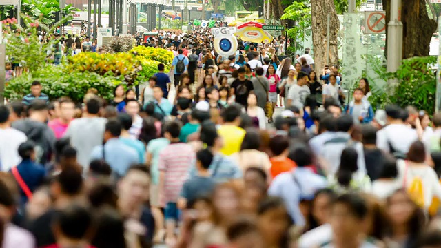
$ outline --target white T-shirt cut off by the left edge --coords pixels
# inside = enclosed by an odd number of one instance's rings
[[[27,140],[26,135],[19,130],[12,127],[0,128],[0,168],[2,172],[8,172],[10,168],[20,163],[19,145]]]

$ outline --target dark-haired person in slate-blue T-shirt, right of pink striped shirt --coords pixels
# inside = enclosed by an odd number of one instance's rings
[[[185,181],[178,200],[178,207],[180,209],[185,209],[188,203],[193,203],[197,198],[211,195],[216,184],[208,170],[212,161],[213,154],[209,149],[202,149],[196,153],[198,175]]]

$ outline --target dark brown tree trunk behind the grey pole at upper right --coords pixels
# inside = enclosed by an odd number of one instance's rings
[[[389,23],[391,0],[383,0],[386,11],[386,23]],[[429,18],[425,0],[402,0],[401,3],[402,56],[408,59],[413,56],[429,56],[429,45],[433,32],[436,32],[436,21]],[[387,33],[387,28],[386,28]],[[384,51],[387,54],[387,45]]]

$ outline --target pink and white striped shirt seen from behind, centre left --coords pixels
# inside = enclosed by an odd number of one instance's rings
[[[177,202],[195,159],[192,146],[186,143],[172,143],[161,151],[158,168],[161,172],[165,172],[163,191],[165,203]]]

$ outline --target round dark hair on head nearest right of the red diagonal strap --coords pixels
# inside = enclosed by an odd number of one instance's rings
[[[65,167],[57,175],[56,180],[61,187],[61,192],[69,196],[76,196],[83,188],[83,176],[75,167]]]

